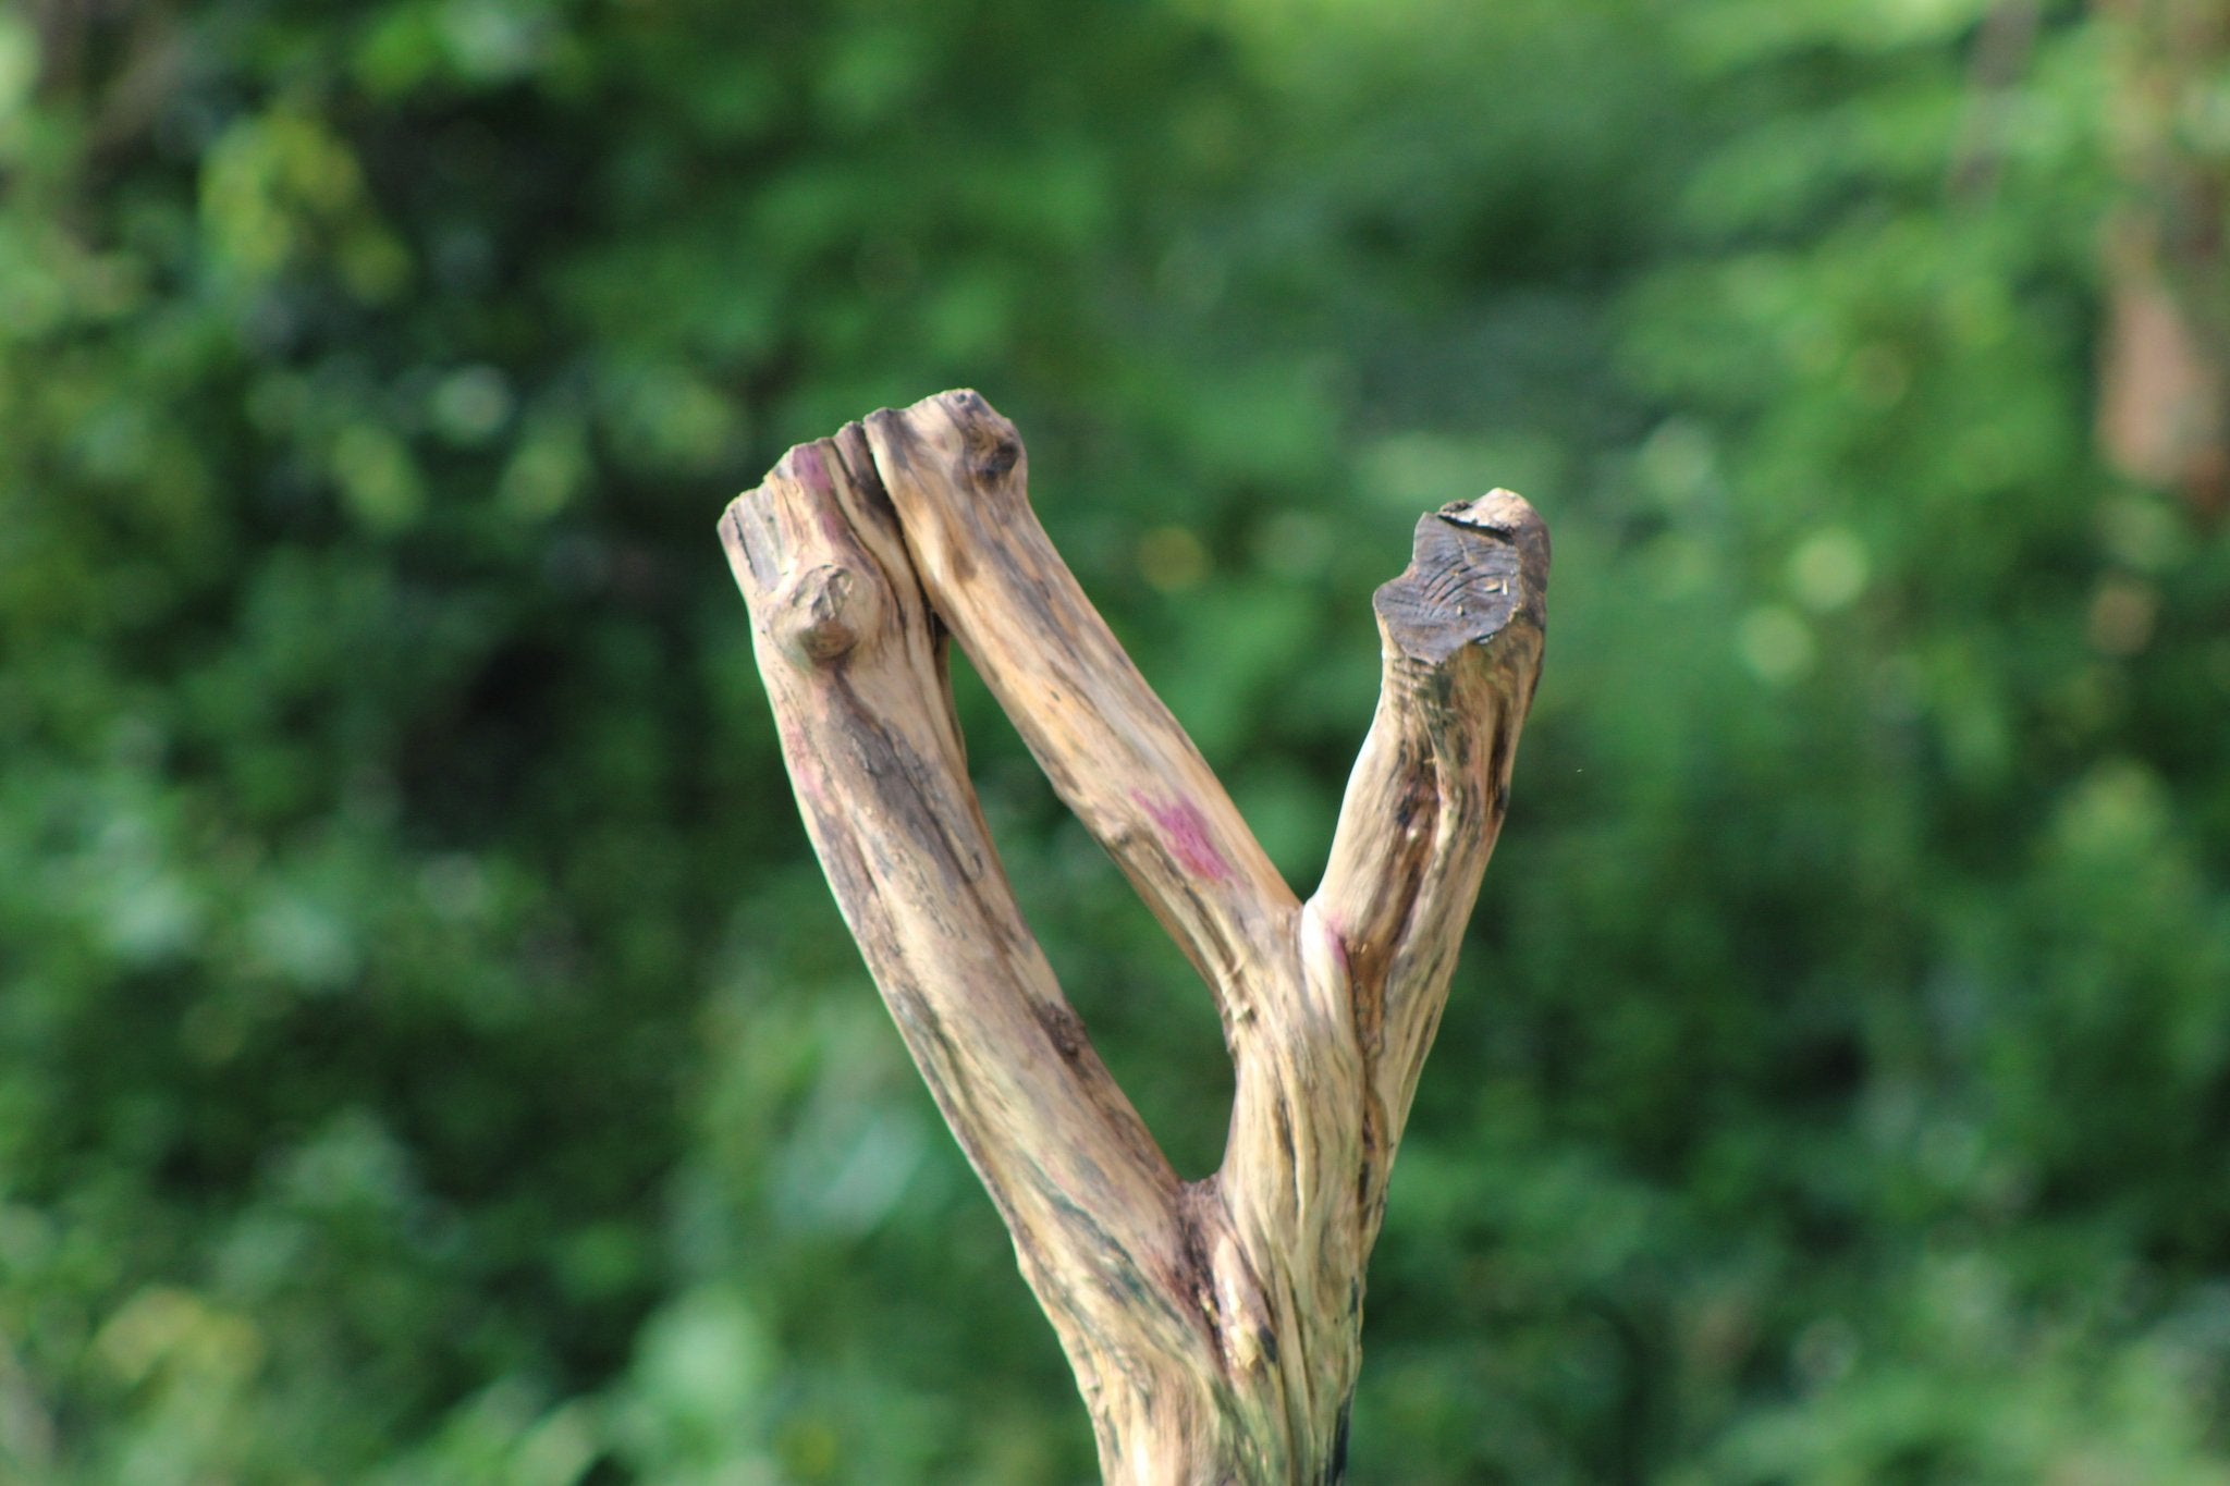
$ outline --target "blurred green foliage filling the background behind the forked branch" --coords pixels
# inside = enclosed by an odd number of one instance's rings
[[[2090,443],[2110,38],[1982,25],[0,9],[0,1479],[1088,1479],[714,541],[966,383],[1296,882],[1416,512],[1557,535],[1356,1479],[2230,1482],[2230,546]]]

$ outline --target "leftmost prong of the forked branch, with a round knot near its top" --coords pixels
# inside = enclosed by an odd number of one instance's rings
[[[1090,1388],[1108,1337],[1155,1346],[1186,1326],[1128,1299],[1162,1292],[1177,1179],[1015,907],[859,428],[792,450],[723,539],[814,851]]]

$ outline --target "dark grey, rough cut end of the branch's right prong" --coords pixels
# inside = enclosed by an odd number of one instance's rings
[[[1523,497],[1490,490],[1421,517],[1416,555],[1371,608],[1387,644],[1438,666],[1512,624],[1548,628],[1548,526]]]

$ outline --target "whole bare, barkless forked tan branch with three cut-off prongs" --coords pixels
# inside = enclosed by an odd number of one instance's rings
[[[720,524],[807,833],[990,1190],[1124,1486],[1318,1486],[1363,1270],[1501,829],[1548,535],[1496,490],[1374,599],[1378,715],[1307,902],[1115,644],[975,392],[801,443]],[[1184,1183],[1021,922],[952,715],[957,635],[1055,791],[1215,991],[1224,1163]]]

